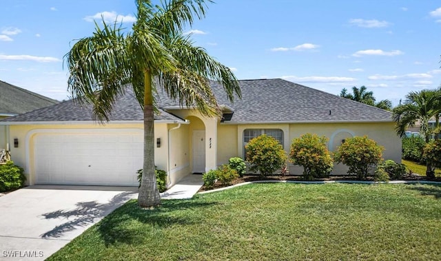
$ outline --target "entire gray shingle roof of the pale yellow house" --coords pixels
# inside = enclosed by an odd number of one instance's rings
[[[392,121],[392,114],[334,94],[291,83],[282,79],[239,81],[243,98],[229,103],[219,83],[212,88],[221,105],[234,109],[232,120],[225,123],[320,123]],[[158,92],[160,115],[155,120],[182,121],[170,113],[178,103]],[[167,113],[167,112],[170,113]],[[7,118],[8,122],[27,121],[92,121],[92,106],[79,107],[73,101],[38,109]],[[331,113],[329,113],[331,112]],[[143,112],[130,88],[114,105],[110,121],[142,121]]]

